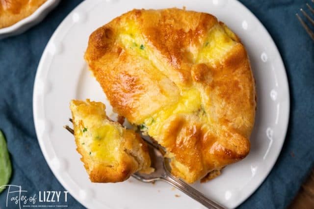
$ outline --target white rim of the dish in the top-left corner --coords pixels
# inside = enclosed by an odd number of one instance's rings
[[[34,13],[20,20],[16,24],[0,28],[0,39],[23,33],[28,28],[40,23],[46,15],[58,5],[60,0],[47,0]]]

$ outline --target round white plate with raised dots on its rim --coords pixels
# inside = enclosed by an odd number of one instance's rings
[[[90,76],[83,54],[89,34],[133,8],[186,6],[208,12],[230,26],[249,53],[256,78],[258,109],[251,152],[227,166],[220,177],[193,186],[210,199],[235,208],[263,182],[285,140],[289,117],[288,81],[281,56],[259,20],[236,0],[86,0],[54,32],[42,55],[34,85],[33,112],[42,152],[56,178],[85,207],[105,209],[201,209],[196,201],[163,182],[90,183],[76,151],[69,124],[71,99],[102,101],[112,109]],[[181,197],[175,197],[176,194]]]

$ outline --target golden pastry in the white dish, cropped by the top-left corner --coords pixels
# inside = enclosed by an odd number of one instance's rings
[[[12,26],[35,12],[47,0],[0,0],[0,28]]]

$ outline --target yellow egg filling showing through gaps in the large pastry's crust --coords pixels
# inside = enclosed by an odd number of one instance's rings
[[[214,65],[215,61],[221,60],[236,45],[236,42],[230,38],[231,35],[235,36],[230,30],[226,31],[223,26],[217,25],[212,27],[208,31],[204,43],[198,46],[198,50],[190,51],[193,63]],[[129,53],[140,55],[144,59],[149,60],[152,66],[165,73],[162,70],[165,68],[164,64],[154,55],[154,50],[150,47],[149,43],[145,42],[135,23],[129,21],[120,30],[118,40]],[[179,101],[147,117],[141,124],[140,129],[147,131],[150,136],[157,139],[164,122],[170,116],[182,113],[186,115],[197,114],[199,120],[204,124],[207,124],[211,120],[202,107],[200,91],[196,87],[181,88]]]

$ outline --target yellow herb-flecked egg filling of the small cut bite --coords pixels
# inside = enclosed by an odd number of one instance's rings
[[[112,164],[119,159],[122,127],[106,119],[102,103],[72,101],[75,134],[82,149],[95,160]]]

